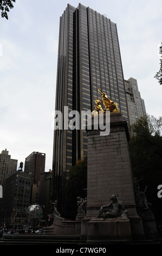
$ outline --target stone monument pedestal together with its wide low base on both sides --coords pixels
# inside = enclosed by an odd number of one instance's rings
[[[106,115],[103,114],[106,121]],[[103,124],[105,125],[105,123]],[[102,126],[103,127],[103,126]],[[89,244],[129,243],[131,240],[157,238],[152,212],[138,215],[134,197],[134,183],[129,159],[129,132],[127,121],[119,112],[110,115],[110,133],[104,135],[96,129],[94,119],[88,130],[87,162],[87,212],[78,214],[75,221],[64,220],[54,215],[50,227],[43,228],[44,234],[54,236],[79,236]],[[102,134],[102,135],[101,135]],[[115,195],[116,197],[111,197]],[[105,212],[111,200],[120,205],[118,217],[108,217]],[[105,205],[104,214],[100,211]],[[117,205],[116,207],[118,208]],[[121,206],[122,205],[122,206]],[[100,214],[99,214],[100,212]],[[112,215],[111,215],[112,216]]]

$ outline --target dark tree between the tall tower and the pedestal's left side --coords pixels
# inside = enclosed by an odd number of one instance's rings
[[[66,202],[69,217],[77,215],[77,197],[87,197],[87,156],[76,162],[68,172],[66,184]]]

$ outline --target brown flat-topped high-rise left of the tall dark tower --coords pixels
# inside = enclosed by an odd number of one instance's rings
[[[41,173],[44,173],[46,163],[46,154],[33,152],[25,158],[24,173],[31,173],[31,193],[30,204],[37,203],[38,183]]]

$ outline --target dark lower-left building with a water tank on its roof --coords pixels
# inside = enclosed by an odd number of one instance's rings
[[[3,182],[3,198],[0,206],[3,209],[1,224],[28,224],[26,208],[30,203],[31,173],[16,170]]]

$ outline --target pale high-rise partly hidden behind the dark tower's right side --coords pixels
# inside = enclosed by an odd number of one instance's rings
[[[131,77],[125,80],[125,89],[128,105],[128,124],[131,126],[137,119],[146,115],[145,102],[141,98],[136,79]]]

